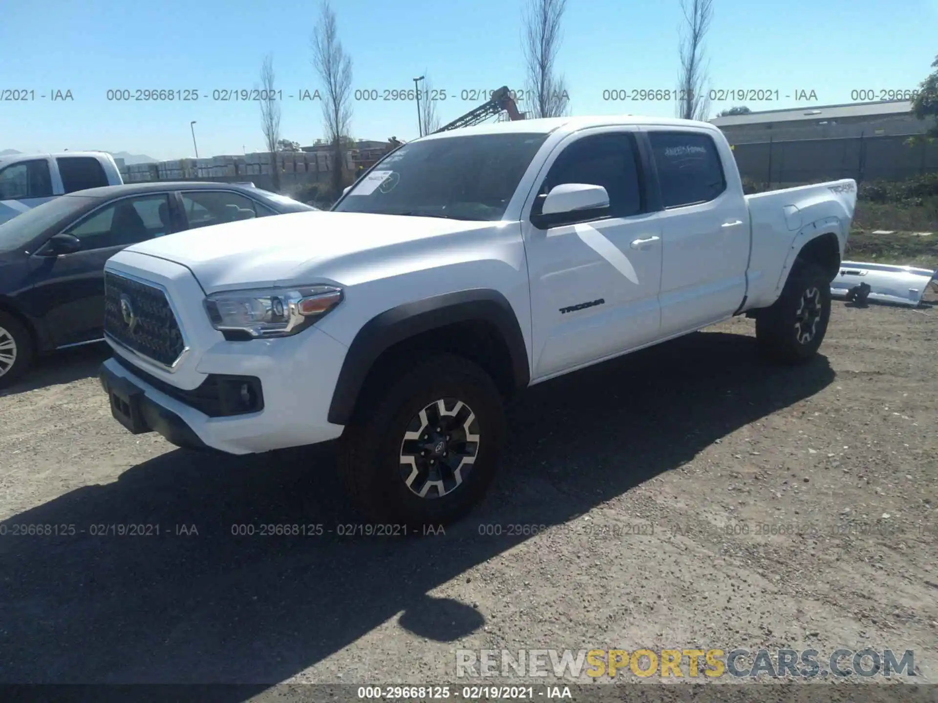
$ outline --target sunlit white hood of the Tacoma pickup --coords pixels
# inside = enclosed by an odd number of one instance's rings
[[[134,251],[186,266],[205,292],[310,283],[380,249],[408,251],[429,238],[491,228],[495,222],[441,217],[308,212],[258,217],[177,232],[133,245]],[[402,253],[402,252],[401,252]],[[120,254],[117,255],[118,257]],[[341,281],[337,281],[341,282]]]

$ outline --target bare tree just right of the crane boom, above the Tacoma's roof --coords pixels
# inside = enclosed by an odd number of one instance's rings
[[[567,113],[570,97],[566,83],[554,70],[565,9],[567,0],[528,0],[524,10],[522,51],[533,117],[559,117]]]

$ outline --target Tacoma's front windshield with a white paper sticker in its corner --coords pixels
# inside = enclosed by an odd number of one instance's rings
[[[498,220],[547,134],[478,134],[405,144],[333,208]]]

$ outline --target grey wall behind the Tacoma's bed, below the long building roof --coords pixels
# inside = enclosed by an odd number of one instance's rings
[[[909,146],[908,135],[734,144],[744,178],[772,186],[833,181],[898,181],[938,172],[938,142]]]

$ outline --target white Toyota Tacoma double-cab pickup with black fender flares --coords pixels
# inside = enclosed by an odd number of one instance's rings
[[[233,455],[338,438],[371,516],[445,522],[492,479],[503,401],[529,385],[740,314],[768,356],[808,360],[855,198],[852,180],[744,196],[699,122],[434,134],[331,212],[113,256],[99,377],[131,432]]]

